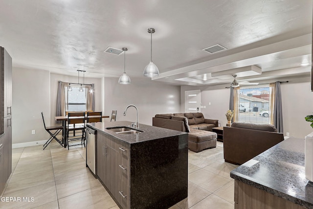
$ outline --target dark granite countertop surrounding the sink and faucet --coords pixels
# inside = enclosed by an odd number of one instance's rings
[[[184,135],[188,134],[185,132],[175,131],[171,129],[160,128],[156,126],[150,126],[145,124],[139,124],[139,130],[144,131],[139,134],[116,134],[115,132],[110,131],[110,129],[106,129],[108,127],[115,127],[115,126],[127,126],[131,127],[132,122],[130,121],[112,121],[112,122],[97,122],[97,123],[88,123],[87,126],[101,131],[103,133],[107,133],[117,139],[126,141],[128,143],[138,143],[142,141],[154,140],[154,139],[161,139],[167,138],[172,136]]]

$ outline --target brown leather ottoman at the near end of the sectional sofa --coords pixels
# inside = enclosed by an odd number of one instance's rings
[[[211,131],[190,129],[188,133],[188,148],[194,152],[216,147],[217,134]]]

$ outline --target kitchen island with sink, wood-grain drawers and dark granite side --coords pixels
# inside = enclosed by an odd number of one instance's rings
[[[96,176],[123,209],[167,209],[188,195],[188,134],[132,122],[97,122]],[[117,130],[118,128],[116,128]]]

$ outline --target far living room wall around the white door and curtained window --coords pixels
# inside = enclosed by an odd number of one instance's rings
[[[290,136],[304,138],[313,132],[310,122],[304,119],[307,115],[313,115],[313,92],[311,92],[310,77],[285,80],[289,80],[289,83],[281,83],[284,135],[286,136],[286,133],[289,132]],[[201,90],[201,104],[206,106],[206,109],[201,109],[204,117],[218,119],[221,126],[225,126],[227,123],[225,112],[229,107],[229,89],[225,89],[225,85],[215,87],[181,86],[180,111],[184,112],[185,91],[196,89]]]

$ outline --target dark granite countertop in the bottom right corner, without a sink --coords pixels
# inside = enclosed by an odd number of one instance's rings
[[[291,137],[232,170],[230,177],[312,209],[313,185],[304,172],[304,139]]]

